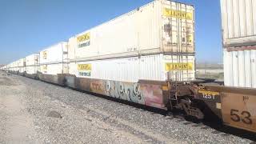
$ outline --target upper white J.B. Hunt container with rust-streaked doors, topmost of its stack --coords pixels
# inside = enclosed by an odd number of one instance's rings
[[[194,53],[194,6],[156,0],[69,39],[69,58]]]

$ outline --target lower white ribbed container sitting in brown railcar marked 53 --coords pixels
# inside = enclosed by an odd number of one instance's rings
[[[256,88],[256,50],[224,50],[226,86]]]

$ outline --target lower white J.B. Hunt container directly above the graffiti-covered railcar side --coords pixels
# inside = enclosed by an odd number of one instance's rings
[[[170,73],[170,77],[168,76]],[[122,82],[139,79],[166,81],[194,80],[194,56],[148,55],[87,62],[70,62],[70,74],[78,78],[97,78]]]

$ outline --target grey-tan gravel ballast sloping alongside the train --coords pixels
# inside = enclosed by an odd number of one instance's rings
[[[204,124],[166,117],[134,106],[54,86],[17,75],[10,78],[15,95],[32,121],[30,141],[38,143],[251,143]],[[18,83],[18,85],[17,85]],[[18,94],[17,94],[18,93]],[[0,94],[3,97],[3,94]],[[0,101],[1,108],[1,101]],[[51,114],[52,112],[52,114]],[[50,116],[49,116],[50,115]],[[7,118],[8,119],[8,118]],[[2,124],[6,122],[0,118]],[[0,130],[0,142],[7,142]],[[2,132],[2,133],[1,133]]]

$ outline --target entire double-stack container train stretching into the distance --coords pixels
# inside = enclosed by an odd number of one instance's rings
[[[150,2],[2,70],[158,109],[183,110],[199,119],[214,114],[226,125],[256,132],[256,53],[251,46],[256,38],[250,37],[256,34],[256,18],[242,13],[242,6],[250,13],[256,2],[237,2],[221,0],[226,86],[195,78],[194,6],[167,0]],[[240,11],[234,12],[232,6]],[[232,24],[233,19],[248,22],[240,25],[242,29]],[[249,21],[254,31],[240,30],[239,35],[237,29],[250,27]],[[246,67],[254,70],[246,71],[250,78],[236,73],[242,65],[245,68],[246,61],[239,58],[247,53],[252,53]],[[236,75],[241,81],[231,80]]]

